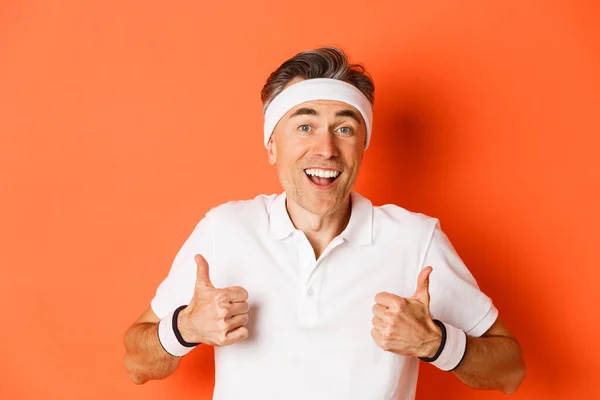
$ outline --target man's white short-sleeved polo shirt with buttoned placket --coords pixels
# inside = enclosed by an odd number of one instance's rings
[[[285,198],[259,195],[210,210],[151,301],[159,318],[189,304],[196,253],[215,287],[248,291],[249,337],[214,349],[214,400],[414,399],[419,359],[375,344],[372,306],[382,291],[411,297],[428,265],[433,318],[471,336],[496,320],[437,219],[373,207],[352,192],[348,226],[315,260]]]

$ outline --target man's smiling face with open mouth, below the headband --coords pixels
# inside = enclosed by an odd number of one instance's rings
[[[269,162],[276,165],[289,199],[313,214],[329,215],[354,187],[365,137],[364,120],[354,107],[308,101],[278,122],[268,144]]]

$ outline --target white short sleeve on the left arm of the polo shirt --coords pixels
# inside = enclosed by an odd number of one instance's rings
[[[209,211],[184,242],[173,260],[169,274],[156,289],[150,306],[158,318],[192,300],[197,274],[194,260],[196,254],[202,254],[209,266],[213,264],[215,246],[212,224]]]

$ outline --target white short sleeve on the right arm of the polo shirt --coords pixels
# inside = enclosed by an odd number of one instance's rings
[[[432,317],[469,336],[483,335],[496,321],[498,309],[481,292],[437,219],[421,269],[427,266],[433,268],[429,278]]]

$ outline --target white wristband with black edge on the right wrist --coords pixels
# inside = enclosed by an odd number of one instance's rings
[[[456,369],[465,355],[467,354],[467,334],[443,322],[434,319],[442,331],[442,343],[438,351],[431,358],[419,357],[425,362],[429,362],[442,371],[452,371]]]

